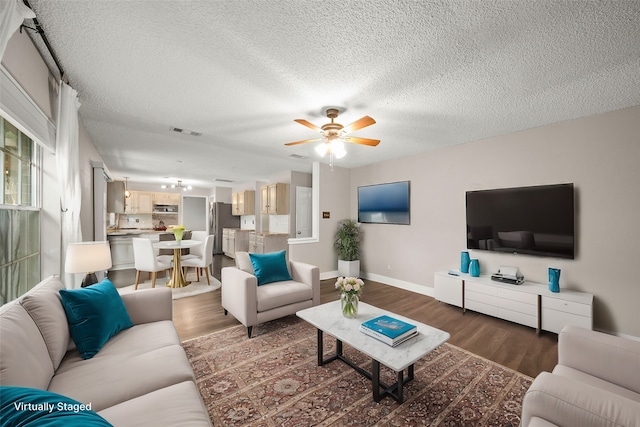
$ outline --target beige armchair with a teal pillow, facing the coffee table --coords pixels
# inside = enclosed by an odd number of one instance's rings
[[[247,252],[236,252],[236,267],[222,269],[222,307],[247,327],[295,314],[320,304],[320,270],[311,264],[287,261],[292,280],[258,286]]]

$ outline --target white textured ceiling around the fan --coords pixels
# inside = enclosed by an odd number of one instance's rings
[[[284,143],[314,138],[293,120],[322,125],[327,106],[377,121],[352,135],[380,145],[335,163],[351,168],[640,105],[635,0],[30,4],[129,182],[310,172],[314,144]]]

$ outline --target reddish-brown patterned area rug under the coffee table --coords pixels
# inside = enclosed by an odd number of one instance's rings
[[[532,379],[444,344],[415,365],[402,405],[340,361],[317,366],[316,329],[295,316],[182,343],[215,426],[517,426]],[[325,354],[335,339],[325,334]],[[371,370],[371,360],[344,346]],[[395,373],[381,368],[384,382]]]

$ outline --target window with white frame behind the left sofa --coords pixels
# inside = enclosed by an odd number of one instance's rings
[[[40,281],[41,149],[0,117],[0,304]]]

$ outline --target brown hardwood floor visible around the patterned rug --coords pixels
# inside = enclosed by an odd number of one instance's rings
[[[231,258],[214,257],[214,277],[220,269],[234,265]],[[338,299],[334,279],[321,282],[322,303]],[[558,360],[558,336],[550,332],[536,334],[535,329],[467,311],[436,301],[426,295],[365,280],[362,301],[429,324],[451,334],[450,344],[535,377],[551,371]],[[220,290],[195,297],[174,300],[173,319],[181,340],[199,337],[240,323],[225,316]],[[259,326],[258,326],[259,328]]]

